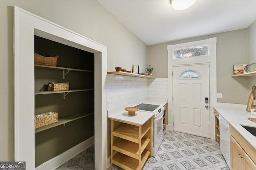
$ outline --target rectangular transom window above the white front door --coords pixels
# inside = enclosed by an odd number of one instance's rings
[[[208,56],[210,45],[199,45],[194,47],[186,47],[172,50],[172,59],[184,59],[190,57]]]

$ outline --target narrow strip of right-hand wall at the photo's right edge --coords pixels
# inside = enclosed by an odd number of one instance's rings
[[[256,20],[248,27],[248,64],[256,63]],[[249,89],[248,95],[252,90],[252,86],[256,86],[256,76],[248,77]]]

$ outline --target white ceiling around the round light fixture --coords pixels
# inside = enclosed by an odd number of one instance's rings
[[[169,0],[98,0],[147,45],[247,28],[256,0],[197,0],[174,10]]]

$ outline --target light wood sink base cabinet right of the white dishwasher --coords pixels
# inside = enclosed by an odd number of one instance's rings
[[[232,170],[256,170],[256,149],[230,126],[230,158]]]

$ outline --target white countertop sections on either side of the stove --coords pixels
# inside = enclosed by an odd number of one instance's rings
[[[167,100],[150,99],[141,101],[141,103],[164,106],[167,103]],[[150,119],[154,115],[153,112],[149,111],[136,111],[134,116],[130,116],[128,115],[128,111],[125,111],[124,108],[125,107],[121,107],[118,109],[108,111],[108,118],[125,121],[128,123],[134,123],[137,125],[143,125],[146,121],[148,121],[148,119]]]

